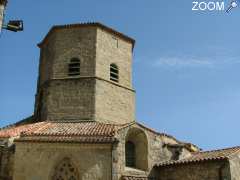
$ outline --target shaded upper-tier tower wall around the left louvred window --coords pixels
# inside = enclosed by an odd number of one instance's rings
[[[53,78],[68,77],[68,63],[72,58],[81,61],[80,76],[94,76],[96,57],[96,28],[82,27],[57,31]]]

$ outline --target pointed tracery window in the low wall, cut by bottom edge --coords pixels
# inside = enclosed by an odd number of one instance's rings
[[[64,158],[55,168],[52,180],[78,180],[77,169],[69,158]]]

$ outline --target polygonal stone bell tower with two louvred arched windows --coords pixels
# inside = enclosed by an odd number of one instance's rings
[[[100,23],[54,26],[40,47],[39,121],[135,121],[134,40]]]

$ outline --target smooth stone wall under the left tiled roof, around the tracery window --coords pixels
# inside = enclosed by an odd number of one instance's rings
[[[17,143],[14,180],[51,180],[55,167],[69,158],[81,180],[111,180],[111,146]]]

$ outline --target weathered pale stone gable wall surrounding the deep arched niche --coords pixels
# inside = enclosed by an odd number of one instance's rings
[[[129,137],[129,132],[131,132],[131,137]],[[160,135],[136,123],[122,129],[117,135],[117,138],[119,143],[113,146],[113,180],[120,179],[122,175],[156,178],[153,172],[154,165],[161,161],[170,160],[172,157],[171,152],[163,145],[165,143],[177,143],[173,138]],[[133,142],[136,141],[136,144],[138,142],[144,142],[143,145],[147,148],[145,151],[144,146],[139,146],[140,149],[138,149],[136,156],[138,156],[141,161],[137,168],[126,167],[125,143],[129,138]]]

